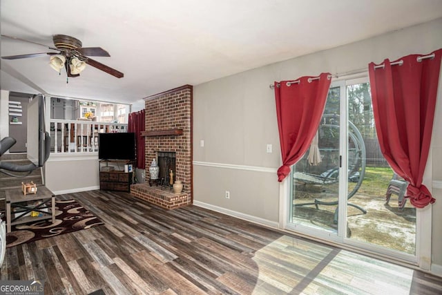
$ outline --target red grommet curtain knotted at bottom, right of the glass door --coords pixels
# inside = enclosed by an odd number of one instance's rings
[[[394,172],[409,182],[405,198],[416,208],[434,203],[422,184],[433,128],[442,49],[434,57],[407,55],[369,64],[376,132],[381,151]],[[392,65],[401,61],[403,64]]]

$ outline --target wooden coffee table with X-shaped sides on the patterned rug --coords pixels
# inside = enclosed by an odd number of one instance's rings
[[[14,211],[13,209],[16,210]],[[39,212],[40,216],[28,216],[28,213],[31,211]],[[22,223],[50,218],[52,218],[52,223],[54,223],[55,196],[46,187],[37,187],[37,193],[26,194],[26,196],[23,195],[21,189],[6,191],[6,232],[9,233],[11,231],[12,225],[21,225]]]

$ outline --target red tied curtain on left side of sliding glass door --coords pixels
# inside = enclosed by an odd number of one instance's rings
[[[298,162],[309,149],[323,115],[330,86],[329,73],[319,77],[300,77],[287,85],[275,82],[276,114],[278,116],[282,166],[278,181],[290,173],[290,166]],[[318,79],[319,78],[319,79]]]

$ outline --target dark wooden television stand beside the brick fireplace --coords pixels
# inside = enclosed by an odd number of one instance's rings
[[[124,171],[124,165],[130,164],[131,160],[100,160],[99,189],[130,192],[133,172]]]

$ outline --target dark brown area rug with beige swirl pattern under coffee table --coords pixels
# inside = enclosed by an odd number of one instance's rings
[[[40,220],[12,226],[11,232],[6,234],[6,247],[89,229],[98,225],[104,225],[102,220],[84,209],[75,200],[56,200],[54,224],[51,220]]]

